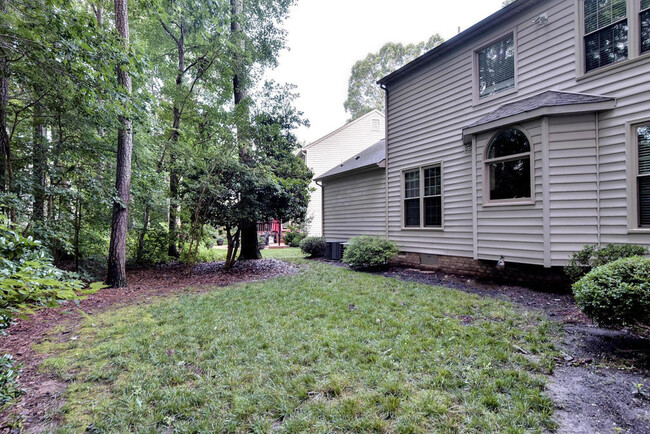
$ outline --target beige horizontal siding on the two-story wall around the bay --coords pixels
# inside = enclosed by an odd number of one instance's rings
[[[581,24],[576,22],[575,11],[574,0],[540,1],[516,20],[495,23],[492,32],[389,84],[388,234],[402,250],[476,254],[487,259],[503,254],[534,264],[545,263],[546,253],[552,265],[563,265],[571,252],[598,239],[650,245],[650,234],[628,233],[625,136],[626,122],[650,114],[650,55],[576,77],[576,43],[582,40],[576,37]],[[543,13],[548,22],[533,24]],[[473,53],[508,31],[515,32],[517,40],[517,91],[475,104]],[[531,128],[536,137],[535,205],[490,210],[482,207],[482,155],[476,154],[474,186],[472,152],[479,150],[466,152],[462,129],[503,104],[547,90],[610,96],[617,99],[617,107],[600,113],[598,121],[596,114],[549,118],[550,233],[545,240],[540,127]],[[478,137],[479,147],[481,139],[485,140]],[[437,162],[443,164],[444,231],[405,230],[401,227],[401,171]],[[599,195],[595,192],[598,176]],[[501,242],[506,228],[508,238]],[[551,251],[545,252],[544,246]]]

